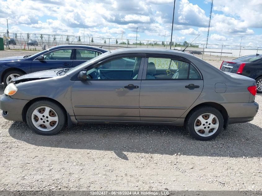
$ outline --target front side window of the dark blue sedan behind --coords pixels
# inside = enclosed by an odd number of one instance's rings
[[[70,60],[73,49],[60,49],[44,54],[45,60]]]

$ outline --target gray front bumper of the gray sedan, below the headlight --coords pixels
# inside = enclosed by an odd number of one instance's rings
[[[10,96],[2,94],[0,97],[0,109],[2,116],[6,120],[23,121],[22,111],[29,100],[12,99]]]

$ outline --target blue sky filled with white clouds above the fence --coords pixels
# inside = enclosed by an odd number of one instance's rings
[[[170,41],[173,0],[0,0],[0,32]],[[173,41],[205,43],[211,0],[176,0]],[[262,2],[214,0],[210,44],[262,46]],[[166,37],[165,37],[166,34]]]

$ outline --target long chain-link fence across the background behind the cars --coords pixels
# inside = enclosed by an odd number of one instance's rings
[[[44,50],[58,45],[82,44],[102,47],[106,50],[119,48],[160,48],[169,49],[169,41],[152,41],[152,40],[135,40],[135,39],[117,39],[104,37],[83,37],[74,35],[55,35],[55,34],[35,34],[35,33],[6,33],[1,32],[0,37],[4,39],[4,44],[10,49],[20,50]],[[11,41],[10,39],[14,39]],[[172,41],[171,49],[184,50],[185,52],[194,53],[201,59],[223,59],[225,57],[237,58],[249,54],[261,54],[262,47],[254,46],[232,46],[218,44],[202,44],[188,42]]]

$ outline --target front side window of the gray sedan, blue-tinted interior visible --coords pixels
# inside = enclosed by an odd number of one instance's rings
[[[87,71],[90,80],[135,80],[141,57],[124,57],[111,60]]]

